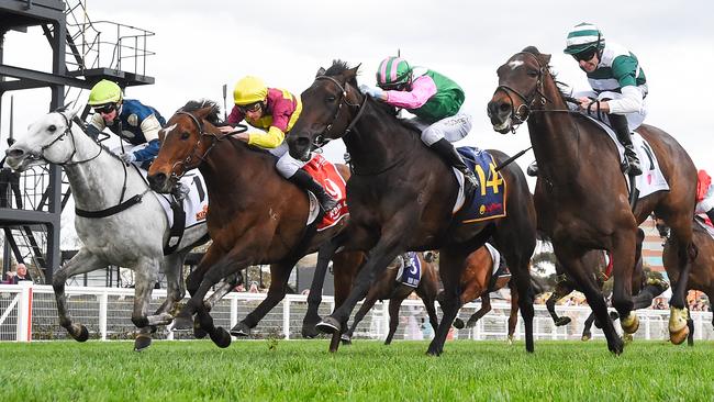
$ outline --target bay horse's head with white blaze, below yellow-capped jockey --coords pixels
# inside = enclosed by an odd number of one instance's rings
[[[178,179],[196,169],[222,136],[217,123],[219,105],[213,101],[189,101],[159,131],[161,148],[148,169],[154,191],[170,192]]]

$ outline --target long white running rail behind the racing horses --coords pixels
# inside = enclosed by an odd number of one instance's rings
[[[131,322],[133,289],[67,287],[68,306],[72,319],[87,326],[97,339],[132,338],[136,330]],[[152,309],[158,309],[166,298],[165,290],[155,290]],[[253,311],[265,298],[263,293],[230,293],[211,311],[216,325],[230,328]],[[359,305],[358,305],[359,308]],[[480,308],[469,303],[459,316],[466,321]],[[324,297],[321,315],[334,309],[334,299]],[[572,323],[556,327],[545,305],[536,305],[534,335],[536,339],[579,339],[583,323],[590,314],[588,306],[558,306],[558,314],[568,315]],[[254,328],[256,337],[299,339],[302,317],[306,311],[306,297],[289,294]],[[437,306],[438,311],[438,306]],[[507,333],[510,305],[494,303],[493,311],[481,319],[473,328],[455,331],[455,338],[504,339]],[[666,339],[669,311],[639,310],[640,327],[636,338]],[[711,312],[692,312],[696,339],[714,339]],[[428,338],[433,332],[421,300],[405,300],[400,309],[400,325],[395,339]],[[618,324],[616,324],[618,325]],[[620,328],[618,328],[620,330]],[[356,337],[383,339],[389,331],[388,302],[377,303],[355,331]],[[516,327],[516,338],[523,337],[523,323]],[[603,338],[602,332],[592,330],[593,338]],[[186,338],[192,334],[175,333],[161,328],[156,338]],[[36,286],[30,281],[21,284],[0,284],[0,340],[31,342],[37,339],[64,339],[68,335],[58,324],[54,292],[49,286]]]

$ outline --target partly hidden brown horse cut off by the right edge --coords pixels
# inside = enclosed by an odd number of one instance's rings
[[[659,228],[659,227],[658,227]],[[706,294],[710,304],[714,303],[714,239],[698,222],[698,217],[692,223],[694,233],[694,244],[699,250],[699,255],[692,261],[692,270],[689,272],[687,280],[687,291],[699,290]],[[680,271],[678,269],[678,256],[680,250],[677,248],[678,243],[669,237],[665,243],[662,252],[662,260],[665,269],[671,281],[679,282]],[[689,305],[688,305],[689,310]],[[714,325],[714,320],[712,321]],[[694,344],[694,322],[688,316],[689,337],[688,344]]]

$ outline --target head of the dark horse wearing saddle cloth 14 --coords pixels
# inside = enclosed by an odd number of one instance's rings
[[[290,156],[309,160],[313,148],[349,132],[365,99],[357,89],[357,69],[341,60],[327,70],[320,68],[315,81],[300,94],[303,109],[288,136]]]

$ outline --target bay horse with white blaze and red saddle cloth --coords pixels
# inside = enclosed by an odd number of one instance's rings
[[[187,278],[191,299],[176,316],[175,327],[193,327],[192,316],[197,314],[198,326],[219,347],[227,347],[231,335],[213,325],[203,300],[207,292],[221,279],[248,266],[270,264],[271,281],[266,299],[231,330],[234,335],[247,336],[285,298],[290,272],[298,260],[343,231],[348,217],[324,231],[316,231],[316,223],[308,225],[308,194],[282,179],[275,168],[274,155],[223,135],[215,127],[220,123],[219,112],[215,102],[205,100],[189,101],[176,112],[159,132],[161,148],[149,168],[148,180],[156,191],[169,192],[186,171],[198,168],[203,175],[211,200],[207,222],[213,243]],[[339,169],[347,180],[349,171],[344,166]],[[348,293],[350,278],[361,258],[359,253],[335,255],[336,303]],[[305,317],[305,324],[310,320],[314,321],[312,324],[320,321],[316,313],[320,299],[321,292],[311,292],[312,313]]]

